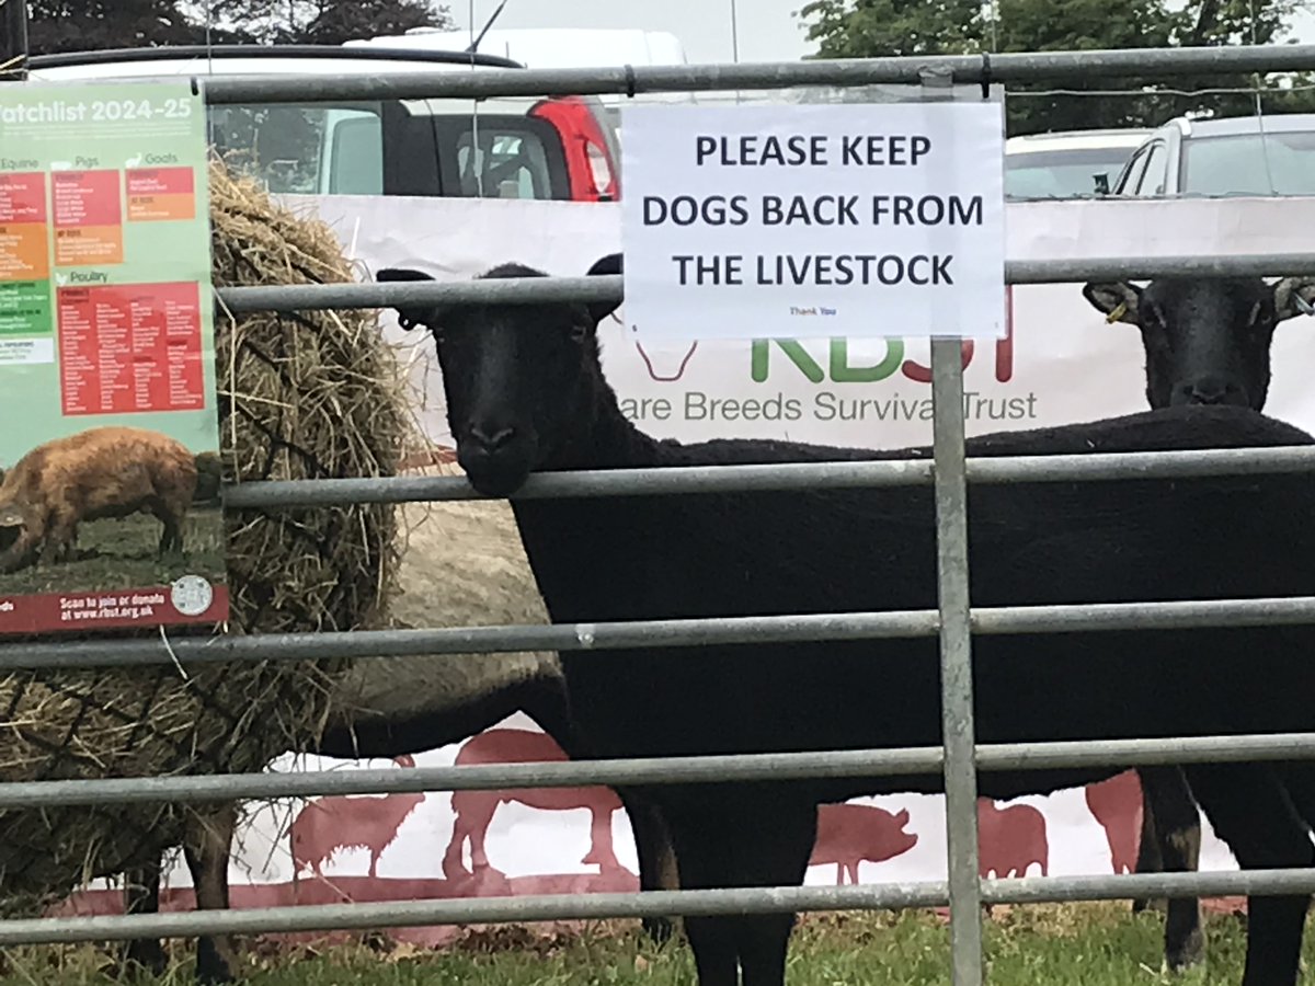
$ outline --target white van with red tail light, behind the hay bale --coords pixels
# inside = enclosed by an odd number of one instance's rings
[[[218,45],[36,55],[33,82],[359,76],[525,66],[426,49]],[[614,201],[621,150],[597,99],[216,105],[210,143],[276,193]]]

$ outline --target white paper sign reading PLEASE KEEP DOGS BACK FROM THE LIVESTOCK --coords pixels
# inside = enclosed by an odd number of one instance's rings
[[[623,110],[636,338],[1005,334],[999,103]]]

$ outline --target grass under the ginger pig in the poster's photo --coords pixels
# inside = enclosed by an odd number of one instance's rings
[[[162,530],[160,522],[147,514],[80,525],[76,559],[0,575],[0,596],[168,585],[188,573],[225,581],[224,514],[218,509],[188,511],[183,557],[156,556]]]

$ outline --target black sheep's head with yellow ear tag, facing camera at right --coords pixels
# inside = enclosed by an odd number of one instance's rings
[[[1274,327],[1315,296],[1315,277],[1164,277],[1145,288],[1088,284],[1110,322],[1141,330],[1152,408],[1235,404],[1261,410],[1269,394]]]

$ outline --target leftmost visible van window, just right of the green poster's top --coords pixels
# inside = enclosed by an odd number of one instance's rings
[[[229,167],[270,192],[383,195],[379,103],[212,106],[209,130]]]

